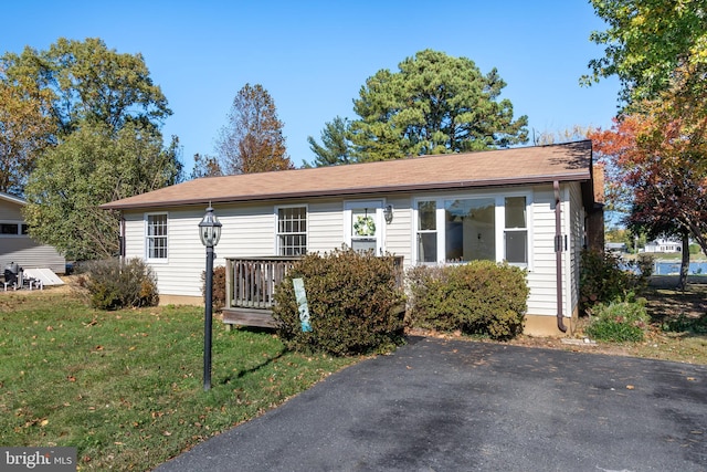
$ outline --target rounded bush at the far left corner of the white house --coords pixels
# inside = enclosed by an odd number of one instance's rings
[[[107,259],[82,264],[77,285],[94,308],[155,306],[159,303],[157,277],[141,259]]]

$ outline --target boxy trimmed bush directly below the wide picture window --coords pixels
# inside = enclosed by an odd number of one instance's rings
[[[408,271],[408,323],[494,339],[523,333],[529,294],[525,272],[493,261]]]

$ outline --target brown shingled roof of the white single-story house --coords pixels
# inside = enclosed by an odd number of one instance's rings
[[[104,209],[278,200],[392,191],[587,181],[591,141],[400,160],[207,177],[102,206]]]

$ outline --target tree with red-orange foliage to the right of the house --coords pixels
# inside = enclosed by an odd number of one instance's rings
[[[659,107],[646,111],[590,135],[599,160],[611,169],[610,197],[629,203],[624,204],[630,209],[624,221],[629,227],[653,238],[680,235],[686,241],[689,234],[707,252],[704,136],[679,118],[665,119]],[[680,285],[688,263],[683,261]]]

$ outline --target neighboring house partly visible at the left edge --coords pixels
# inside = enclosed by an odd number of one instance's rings
[[[40,244],[28,235],[22,217],[27,202],[0,192],[0,269],[14,262],[22,269],[51,269],[54,273],[66,272],[66,260],[51,245]]]

